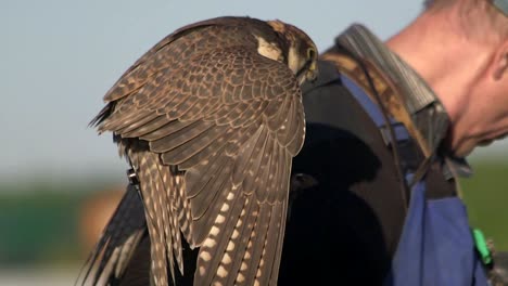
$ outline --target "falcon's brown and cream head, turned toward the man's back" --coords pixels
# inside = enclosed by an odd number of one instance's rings
[[[300,84],[315,80],[318,74],[318,50],[310,37],[297,27],[278,20],[267,23],[282,40],[284,62],[293,70]]]

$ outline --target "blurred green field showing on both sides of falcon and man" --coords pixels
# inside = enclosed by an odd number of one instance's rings
[[[472,179],[461,180],[471,224],[494,238],[497,249],[508,250],[508,162],[475,162],[473,169]],[[82,262],[79,205],[112,185],[104,180],[0,184],[0,268]]]

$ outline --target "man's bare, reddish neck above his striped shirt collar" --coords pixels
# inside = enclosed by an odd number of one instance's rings
[[[461,32],[461,27],[454,26],[446,16],[428,13],[389,39],[386,44],[433,89],[453,125],[457,128],[470,126],[463,115],[472,107],[469,91],[490,61],[491,53],[484,47],[474,44]]]

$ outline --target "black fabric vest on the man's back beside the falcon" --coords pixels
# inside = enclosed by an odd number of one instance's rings
[[[391,150],[330,63],[304,95],[307,136],[293,172],[317,185],[292,200],[279,285],[381,285],[396,250],[407,192]],[[410,156],[405,155],[406,158]],[[434,164],[434,197],[455,194]]]

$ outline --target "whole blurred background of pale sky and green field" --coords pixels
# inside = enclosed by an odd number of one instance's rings
[[[1,0],[0,285],[69,285],[90,245],[97,196],[124,184],[111,135],[87,128],[102,96],[139,56],[178,27],[220,15],[279,18],[323,50],[350,24],[386,39],[422,1]],[[472,222],[508,249],[508,142],[471,156]],[[474,190],[474,191],[473,191]],[[91,203],[90,203],[91,202]],[[88,242],[88,240],[87,240]]]

